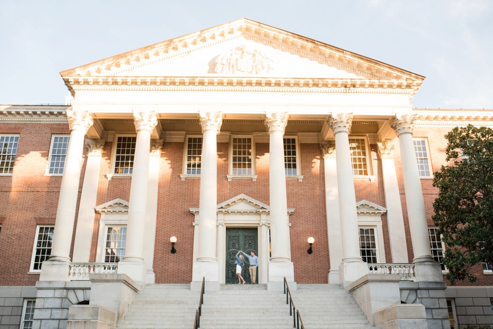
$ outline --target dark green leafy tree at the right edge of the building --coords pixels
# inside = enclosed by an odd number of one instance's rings
[[[434,174],[433,221],[447,245],[447,279],[474,282],[471,267],[493,263],[493,129],[455,127],[445,138],[452,163]]]

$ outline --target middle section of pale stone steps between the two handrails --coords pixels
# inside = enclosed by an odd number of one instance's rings
[[[200,328],[293,328],[286,295],[264,284],[226,284],[204,295]]]

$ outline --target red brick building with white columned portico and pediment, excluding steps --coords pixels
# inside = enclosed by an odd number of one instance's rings
[[[393,269],[429,327],[493,323],[491,265],[445,285],[431,220],[444,135],[493,111],[413,108],[423,76],[246,19],[61,75],[70,106],[0,106],[0,327],[66,326],[93,272],[218,289],[239,249],[269,289]]]

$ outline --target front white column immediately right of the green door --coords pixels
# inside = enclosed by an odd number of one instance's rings
[[[269,131],[269,198],[271,220],[271,259],[269,282],[282,282],[286,277],[294,281],[291,262],[288,207],[286,199],[286,174],[284,168],[284,128],[287,113],[267,113],[265,125]]]

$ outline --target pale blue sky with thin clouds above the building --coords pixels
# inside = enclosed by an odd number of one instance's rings
[[[62,70],[242,17],[425,75],[416,107],[493,109],[490,0],[0,0],[0,104],[63,104]]]

